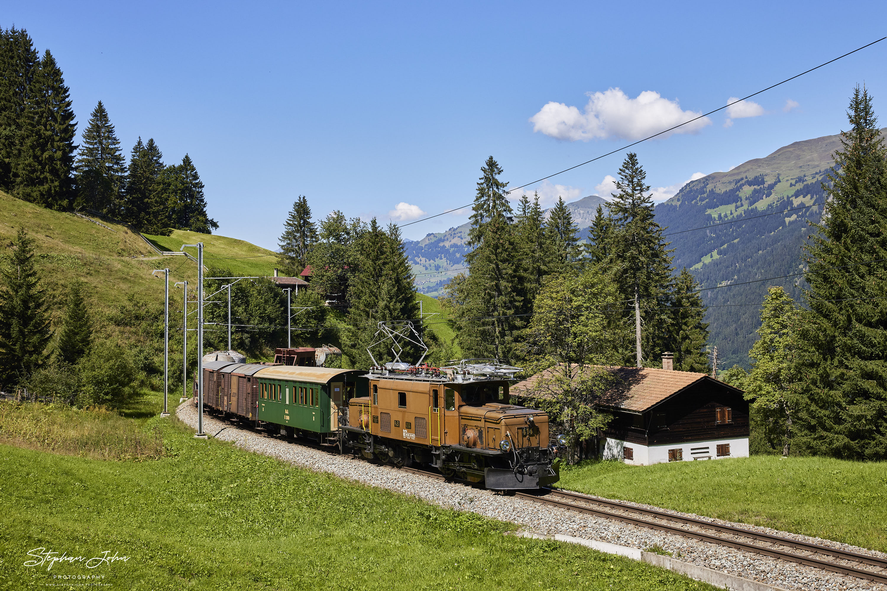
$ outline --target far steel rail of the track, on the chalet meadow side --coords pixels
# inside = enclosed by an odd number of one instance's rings
[[[802,541],[802,540],[793,540],[791,538],[785,538],[783,536],[773,535],[772,533],[753,532],[753,531],[750,531],[747,529],[743,529],[742,527],[734,527],[733,525],[713,524],[713,523],[710,523],[709,521],[705,521],[704,519],[697,519],[695,517],[684,517],[684,516],[674,515],[672,513],[668,513],[666,511],[660,511],[660,510],[656,510],[656,509],[644,509],[641,507],[634,507],[634,506],[629,505],[624,502],[598,499],[593,496],[588,496],[587,494],[572,493],[569,491],[563,491],[563,490],[556,489],[556,488],[551,489],[550,494],[556,494],[558,496],[562,496],[567,499],[572,499],[574,501],[594,503],[597,505],[609,507],[611,509],[632,511],[634,513],[648,515],[650,517],[658,517],[660,519],[668,519],[670,521],[675,521],[677,523],[698,525],[700,527],[705,527],[710,530],[716,530],[718,532],[732,533],[734,535],[740,535],[745,538],[752,538],[754,540],[767,541],[767,542],[770,542],[773,544],[779,544],[780,546],[787,546],[789,548],[797,548],[800,550],[806,550],[808,552],[815,552],[816,554],[835,556],[836,558],[840,558],[841,560],[850,560],[853,562],[870,564],[871,566],[877,566],[877,567],[880,567],[883,569],[887,569],[887,560],[885,560],[883,558],[878,558],[877,556],[868,556],[865,554],[860,554],[858,552],[852,552],[850,550],[842,550],[840,548],[831,548],[829,546],[823,546],[821,544],[814,544],[812,542],[807,542],[807,541]]]

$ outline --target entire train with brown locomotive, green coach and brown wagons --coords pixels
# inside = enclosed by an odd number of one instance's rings
[[[550,486],[560,477],[548,416],[509,403],[518,371],[494,360],[443,368],[397,361],[369,371],[208,362],[204,405],[342,453],[434,466],[494,490]]]

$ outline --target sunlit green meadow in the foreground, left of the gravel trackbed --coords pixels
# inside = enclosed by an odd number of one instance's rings
[[[713,588],[193,439],[174,417],[138,423],[162,433],[161,459],[0,444],[0,589],[74,588],[82,576],[116,589]],[[50,565],[42,552],[84,560]],[[97,556],[127,559],[87,568]]]

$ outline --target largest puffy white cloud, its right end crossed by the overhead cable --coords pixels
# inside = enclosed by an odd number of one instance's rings
[[[530,117],[533,131],[571,142],[608,137],[641,139],[702,114],[684,111],[677,100],[663,98],[653,90],[645,90],[637,98],[628,97],[621,89],[589,92],[587,96],[588,104],[584,111],[579,111],[575,106],[549,102]],[[710,124],[711,120],[703,117],[662,137],[695,134]]]

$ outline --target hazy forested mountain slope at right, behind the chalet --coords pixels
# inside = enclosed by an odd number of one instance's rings
[[[789,144],[687,183],[656,206],[656,221],[668,228],[665,234],[675,249],[675,267],[689,268],[703,288],[717,288],[706,289],[703,300],[709,306],[710,344],[718,346],[722,368],[748,367],[769,286],[781,285],[800,301],[801,249],[812,230],[808,222],[820,221],[821,183],[839,147],[838,136]],[[773,215],[756,218],[763,214]],[[794,276],[759,281],[787,275]],[[726,287],[731,284],[744,285]]]

